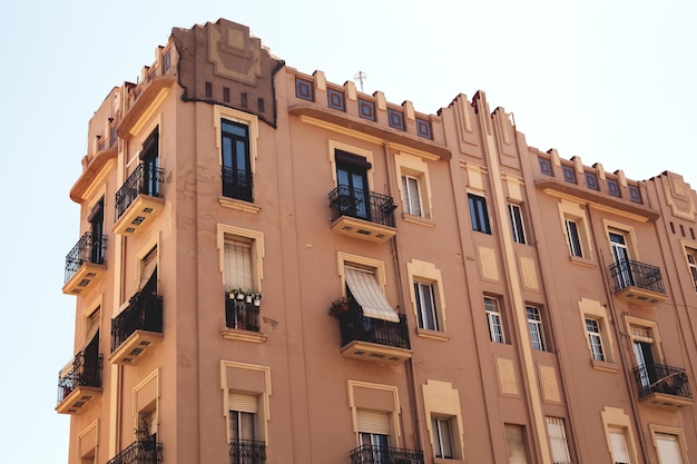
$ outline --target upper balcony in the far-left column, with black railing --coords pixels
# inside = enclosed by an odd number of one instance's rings
[[[104,264],[107,237],[101,234],[85,233],[66,256],[66,280],[63,293],[79,295],[95,288],[107,273]]]

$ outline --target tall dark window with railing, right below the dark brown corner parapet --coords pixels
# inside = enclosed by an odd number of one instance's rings
[[[220,121],[223,196],[252,201],[249,128],[226,119]]]

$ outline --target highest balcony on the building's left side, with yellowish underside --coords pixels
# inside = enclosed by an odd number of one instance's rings
[[[136,235],[144,224],[153,221],[163,210],[160,184],[165,171],[153,166],[138,165],[116,192],[116,225],[120,235]]]

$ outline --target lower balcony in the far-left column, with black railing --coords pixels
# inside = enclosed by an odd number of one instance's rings
[[[80,414],[101,397],[101,355],[78,353],[58,374],[59,414]]]

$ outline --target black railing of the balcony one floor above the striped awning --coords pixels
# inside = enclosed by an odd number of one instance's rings
[[[342,216],[370,220],[383,226],[394,227],[394,209],[392,197],[374,194],[341,185],[330,192],[332,223]]]

